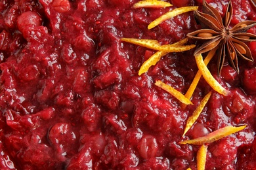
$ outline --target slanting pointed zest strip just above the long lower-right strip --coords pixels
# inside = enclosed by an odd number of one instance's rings
[[[194,110],[192,116],[190,116],[186,122],[186,127],[184,129],[184,133],[183,136],[186,134],[186,132],[190,129],[190,127],[194,124],[194,122],[196,122],[196,120],[198,119],[198,117],[200,116],[203,108],[205,107],[206,103],[208,102],[209,98],[211,97],[211,92],[207,93],[207,95],[205,95],[205,97],[203,97],[202,101],[200,102],[200,104],[198,105],[198,107],[196,108],[196,110]]]

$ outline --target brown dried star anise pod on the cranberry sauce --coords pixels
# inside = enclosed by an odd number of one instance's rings
[[[225,58],[228,58],[229,64],[238,73],[238,56],[253,61],[251,51],[244,42],[256,41],[256,35],[246,32],[256,25],[256,21],[244,21],[230,27],[232,13],[231,1],[223,18],[217,9],[203,1],[202,12],[196,11],[194,14],[196,20],[202,25],[202,29],[188,33],[188,37],[203,41],[195,50],[195,56],[215,47],[218,48],[218,75],[221,73]]]

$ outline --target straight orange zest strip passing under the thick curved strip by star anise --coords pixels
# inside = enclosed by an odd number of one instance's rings
[[[216,50],[217,50],[217,48],[213,48],[213,50],[211,50],[207,54],[206,58],[203,61],[205,63],[205,65],[208,65],[209,61],[211,61],[211,59],[215,55]],[[196,76],[194,77],[194,80],[190,84],[190,87],[188,88],[188,91],[185,94],[186,98],[191,99],[191,97],[192,97],[192,95],[193,95],[193,93],[194,93],[194,91],[196,89],[196,86],[198,85],[198,82],[199,82],[201,76],[202,76],[201,72],[198,71],[198,73],[196,73]]]

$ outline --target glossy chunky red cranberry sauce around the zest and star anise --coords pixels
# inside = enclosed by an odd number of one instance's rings
[[[147,25],[177,7],[202,9],[202,1],[133,9],[136,2],[0,1],[0,169],[196,169],[199,146],[180,141],[244,124],[243,131],[209,144],[206,169],[256,168],[256,64],[241,60],[238,74],[226,63],[218,77],[214,58],[209,70],[231,94],[213,92],[182,137],[188,116],[211,88],[202,78],[194,105],[183,110],[154,82],[185,93],[198,71],[194,50],[167,54],[139,76],[154,51],[119,39],[177,42],[200,27],[193,12],[154,29]],[[228,1],[208,3],[223,14]],[[232,25],[256,20],[249,1],[232,3]],[[249,47],[256,59],[256,43]]]

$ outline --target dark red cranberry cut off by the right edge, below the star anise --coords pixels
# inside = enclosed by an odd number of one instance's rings
[[[256,93],[256,69],[247,69],[244,71],[243,84],[245,90],[248,93],[255,94]]]

